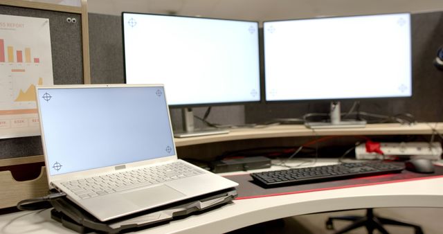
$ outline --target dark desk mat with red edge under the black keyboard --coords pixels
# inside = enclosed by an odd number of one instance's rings
[[[443,166],[435,165],[435,172],[431,174],[419,174],[415,172],[410,172],[408,170],[403,170],[401,173],[395,174],[383,174],[372,177],[360,177],[336,181],[325,181],[319,183],[307,183],[278,188],[262,188],[253,183],[253,179],[249,174],[237,174],[225,177],[239,183],[239,186],[237,187],[238,197],[236,198],[238,200],[443,177]]]

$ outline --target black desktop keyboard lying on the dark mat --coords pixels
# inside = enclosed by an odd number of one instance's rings
[[[341,163],[336,165],[314,166],[311,168],[257,172],[251,173],[251,177],[261,186],[267,188],[398,173],[401,172],[401,170],[404,170],[404,165],[395,163]]]

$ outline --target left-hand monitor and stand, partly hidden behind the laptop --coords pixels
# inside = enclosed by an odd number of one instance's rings
[[[168,105],[183,108],[185,133],[175,136],[227,132],[195,132],[192,107],[260,101],[256,21],[131,12],[122,19],[125,80],[165,84]]]

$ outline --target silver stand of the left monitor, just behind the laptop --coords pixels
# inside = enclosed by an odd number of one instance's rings
[[[174,137],[185,138],[229,133],[226,129],[194,129],[194,113],[192,112],[192,108],[181,109],[181,114],[183,120],[183,132],[174,133]]]

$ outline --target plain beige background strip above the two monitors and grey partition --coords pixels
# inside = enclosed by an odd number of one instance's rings
[[[127,11],[254,21],[443,10],[442,0],[88,0],[87,3],[89,12],[105,15]]]

